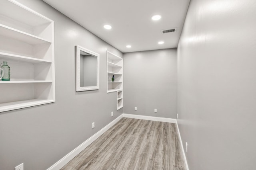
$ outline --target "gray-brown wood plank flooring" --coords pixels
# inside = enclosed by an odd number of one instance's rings
[[[61,170],[186,170],[176,124],[122,118]]]

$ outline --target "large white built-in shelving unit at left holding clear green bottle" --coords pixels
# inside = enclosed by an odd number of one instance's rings
[[[54,21],[14,0],[0,1],[0,112],[55,102]]]

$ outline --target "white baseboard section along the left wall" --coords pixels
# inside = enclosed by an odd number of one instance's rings
[[[93,141],[95,141],[100,135],[105,133],[110,127],[112,127],[116,122],[118,122],[120,119],[122,119],[123,115],[118,116],[116,119],[114,119],[112,122],[110,122],[108,125],[103,127],[100,131],[92,135],[89,139],[84,141],[81,145],[76,147],[76,149],[72,150],[70,153],[68,153],[66,156],[61,158],[58,162],[56,162],[54,165],[52,165],[47,170],[59,170],[64,165],[66,165],[70,160],[72,160],[76,155],[78,155],[82,150],[84,150],[86,147],[88,147]]]

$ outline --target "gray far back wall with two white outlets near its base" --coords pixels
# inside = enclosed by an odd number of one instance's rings
[[[176,118],[176,51],[124,53],[124,113]]]

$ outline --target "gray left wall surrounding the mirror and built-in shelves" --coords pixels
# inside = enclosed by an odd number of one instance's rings
[[[18,1],[55,21],[56,102],[0,113],[0,170],[45,170],[122,113],[106,93],[106,49],[122,53],[41,0]],[[100,54],[100,90],[76,92],[76,45]]]

